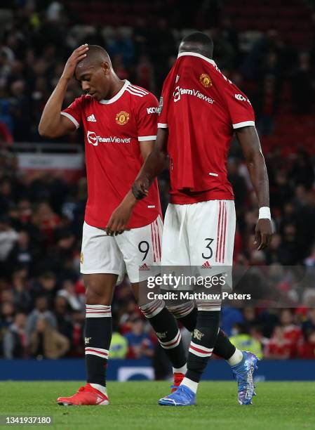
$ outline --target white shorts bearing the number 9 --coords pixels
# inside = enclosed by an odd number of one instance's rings
[[[121,235],[108,236],[102,228],[83,224],[81,273],[113,273],[117,283],[128,274],[132,283],[147,280],[160,272],[163,223],[131,228]]]

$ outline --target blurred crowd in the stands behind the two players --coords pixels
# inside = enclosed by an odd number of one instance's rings
[[[8,2],[8,8],[12,2]],[[18,167],[15,142],[41,142],[41,111],[81,43],[105,46],[121,79],[159,96],[175,60],[182,28],[165,18],[148,26],[140,15],[134,27],[82,35],[58,1],[15,1],[0,30],[0,356],[60,358],[83,356],[84,286],[79,273],[86,178],[68,183],[60,174],[30,179]],[[38,2],[40,3],[40,2]],[[18,5],[18,6],[16,6]],[[206,16],[206,15],[205,15]],[[255,107],[260,136],[270,136],[290,86],[290,113],[314,112],[314,46],[299,51],[275,30],[241,48],[240,34],[217,13],[209,33],[220,69],[241,86]],[[192,17],[193,19],[193,17]],[[3,17],[0,21],[4,22]],[[315,19],[314,19],[315,22]],[[187,26],[193,27],[192,22]],[[108,29],[107,29],[108,30]],[[81,93],[69,85],[65,105]],[[65,141],[82,144],[80,131]],[[42,143],[44,145],[44,143]],[[236,197],[234,263],[240,266],[301,266],[315,271],[314,156],[297,148],[283,158],[266,154],[275,234],[265,251],[253,245],[257,204],[239,147],[232,143],[229,179]],[[163,211],[168,203],[168,171],[160,177]],[[290,271],[283,291],[296,282]],[[290,296],[290,308],[231,308],[222,328],[241,349],[265,358],[315,358],[315,283]],[[130,292],[128,278],[116,287],[112,358],[163,356]],[[185,339],[189,334],[183,330]],[[187,340],[188,341],[188,340]]]

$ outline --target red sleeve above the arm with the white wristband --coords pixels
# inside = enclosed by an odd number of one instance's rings
[[[224,82],[225,101],[234,129],[245,126],[255,126],[255,113],[247,96],[236,85]]]

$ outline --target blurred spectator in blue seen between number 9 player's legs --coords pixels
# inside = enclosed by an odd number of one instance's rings
[[[149,358],[153,356],[153,345],[145,332],[143,320],[135,318],[131,323],[131,330],[126,334],[128,341],[128,358]]]

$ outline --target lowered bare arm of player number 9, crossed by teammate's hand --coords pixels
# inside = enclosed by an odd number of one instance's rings
[[[144,164],[142,164],[142,169],[139,171],[139,174],[135,179],[135,181],[137,181],[138,178],[140,178],[140,176],[142,175],[143,169],[147,164],[146,163],[147,159],[152,154],[153,150],[154,150],[154,141],[140,142],[140,151],[141,151],[142,158],[144,160]],[[116,209],[112,213],[112,216],[109,219],[109,222],[107,224],[108,235],[121,234],[123,233],[124,230],[126,230],[126,226],[132,214],[133,207],[135,206],[136,203],[137,203],[137,199],[133,195],[132,190],[130,190],[124,197],[121,204],[119,204],[119,206],[116,207]]]

